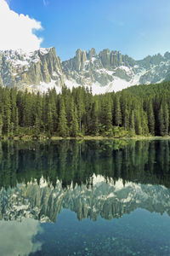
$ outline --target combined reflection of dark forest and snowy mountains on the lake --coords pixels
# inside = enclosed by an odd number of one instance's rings
[[[62,208],[79,220],[137,208],[169,215],[169,147],[161,140],[1,143],[0,218],[55,222]]]

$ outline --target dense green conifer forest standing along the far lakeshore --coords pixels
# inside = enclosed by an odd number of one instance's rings
[[[170,82],[105,95],[85,87],[30,93],[0,87],[0,137],[167,136]]]

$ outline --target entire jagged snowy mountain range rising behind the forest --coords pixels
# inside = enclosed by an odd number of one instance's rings
[[[170,53],[135,61],[120,51],[96,53],[77,49],[68,61],[60,61],[55,49],[0,50],[0,84],[19,90],[45,92],[55,87],[88,86],[94,94],[117,91],[135,84],[156,84],[170,79]]]

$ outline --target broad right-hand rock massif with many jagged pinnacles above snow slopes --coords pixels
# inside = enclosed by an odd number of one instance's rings
[[[62,62],[65,84],[88,85],[94,93],[122,90],[135,84],[153,84],[170,79],[170,54],[148,56],[134,61],[119,51],[104,49],[96,54],[77,50],[76,56]]]

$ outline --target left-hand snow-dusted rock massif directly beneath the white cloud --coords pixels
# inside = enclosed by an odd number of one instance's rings
[[[0,83],[9,88],[38,88],[42,82],[64,84],[59,57],[55,49],[39,49],[31,53],[22,50],[0,51]]]

